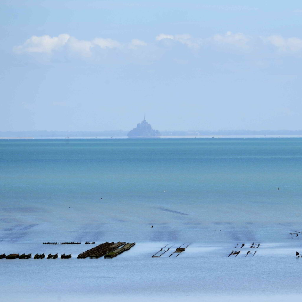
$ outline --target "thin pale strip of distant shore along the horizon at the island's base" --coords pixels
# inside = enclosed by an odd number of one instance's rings
[[[161,137],[148,137],[148,138],[131,138],[127,136],[120,137],[0,137],[0,140],[50,140],[50,139],[173,139],[173,138],[184,138],[184,139],[195,139],[195,138],[302,138],[302,135],[171,135]]]

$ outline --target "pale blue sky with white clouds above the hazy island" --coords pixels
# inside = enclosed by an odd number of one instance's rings
[[[300,1],[0,7],[0,131],[302,129]]]

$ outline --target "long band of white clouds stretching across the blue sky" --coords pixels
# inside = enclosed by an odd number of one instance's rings
[[[53,55],[59,51],[68,51],[76,53],[82,57],[92,56],[93,51],[102,50],[120,50],[135,51],[138,49],[144,52],[152,52],[155,48],[165,49],[185,45],[189,50],[202,51],[203,47],[215,47],[220,51],[249,50],[259,52],[264,50],[268,45],[276,53],[299,53],[302,51],[302,39],[297,37],[284,38],[280,35],[271,35],[268,37],[252,37],[243,33],[232,33],[227,31],[225,34],[214,34],[211,37],[195,39],[190,34],[165,34],[161,33],[155,37],[155,41],[147,43],[143,40],[134,38],[128,43],[123,43],[111,38],[96,37],[92,40],[79,40],[69,34],[59,34],[56,37],[32,36],[23,44],[15,46],[14,52],[22,53],[44,53]],[[256,45],[256,47],[255,47]]]

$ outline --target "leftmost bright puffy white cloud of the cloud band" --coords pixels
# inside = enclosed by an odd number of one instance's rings
[[[60,34],[58,37],[32,36],[24,44],[14,47],[14,51],[16,53],[51,53],[66,44],[69,38],[68,34]]]

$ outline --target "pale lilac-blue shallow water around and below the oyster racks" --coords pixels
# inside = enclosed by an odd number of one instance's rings
[[[227,255],[234,249],[229,243],[194,243],[178,257],[151,258],[167,242],[137,243],[114,259],[76,259],[87,246],[43,246],[39,244],[5,245],[8,252],[72,252],[72,259],[0,260],[5,278],[2,295],[14,300],[22,293],[38,301],[40,295],[82,297],[106,295],[125,297],[162,297],[177,300],[178,295],[274,295],[301,294],[293,286],[302,277],[300,261],[295,258],[298,241],[288,244],[261,244],[254,257],[241,249],[237,256]],[[171,245],[172,243],[170,243]],[[175,247],[182,243],[175,243]],[[90,248],[91,246],[89,246]],[[255,252],[256,249],[252,249]],[[16,287],[16,284],[18,286]],[[137,297],[136,297],[137,296]],[[113,299],[115,301],[115,299]],[[118,300],[118,299],[117,299]],[[22,300],[21,300],[22,301]],[[156,300],[155,300],[156,301]]]

